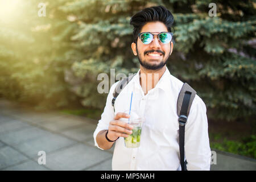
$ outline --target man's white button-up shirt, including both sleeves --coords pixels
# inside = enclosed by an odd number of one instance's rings
[[[183,82],[172,76],[166,68],[155,88],[146,96],[137,75],[123,88],[112,106],[113,91],[118,82],[112,85],[106,100],[104,112],[94,131],[108,130],[109,122],[115,114],[130,109],[144,117],[141,131],[141,146],[127,148],[123,137],[115,142],[112,159],[113,170],[180,170],[179,123],[177,98]],[[199,96],[195,96],[185,125],[185,159],[188,170],[210,169],[210,146],[208,137],[207,108]],[[100,148],[102,149],[102,148]]]

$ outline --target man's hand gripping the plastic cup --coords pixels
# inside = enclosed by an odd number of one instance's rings
[[[133,126],[124,121],[120,121],[119,118],[130,118],[130,115],[126,113],[117,113],[114,120],[109,122],[109,132],[107,137],[110,140],[116,140],[118,137],[128,137],[133,133]]]

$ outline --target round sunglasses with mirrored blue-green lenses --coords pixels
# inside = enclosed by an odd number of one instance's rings
[[[139,39],[141,39],[141,42],[143,44],[150,44],[153,39],[154,35],[158,36],[158,40],[162,42],[163,44],[168,44],[172,40],[172,34],[171,32],[160,32],[160,34],[152,34],[155,32],[142,32],[138,34]]]

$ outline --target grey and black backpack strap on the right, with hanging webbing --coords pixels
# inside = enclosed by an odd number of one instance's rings
[[[184,83],[177,99],[177,115],[179,115],[179,146],[181,171],[187,171],[187,161],[184,161],[185,123],[187,122],[190,107],[195,96],[196,91],[187,83]]]

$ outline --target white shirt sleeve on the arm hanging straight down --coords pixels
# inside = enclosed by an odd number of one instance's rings
[[[187,170],[210,170],[210,144],[208,135],[207,108],[196,95],[185,125],[185,159]]]

